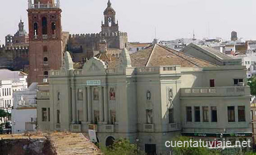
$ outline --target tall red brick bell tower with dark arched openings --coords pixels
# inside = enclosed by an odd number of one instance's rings
[[[55,2],[56,1],[56,2]],[[29,83],[47,83],[63,61],[60,0],[28,0]]]

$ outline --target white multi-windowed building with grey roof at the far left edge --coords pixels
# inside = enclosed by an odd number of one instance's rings
[[[22,71],[0,70],[0,109],[11,113],[13,92],[26,89],[27,74]]]

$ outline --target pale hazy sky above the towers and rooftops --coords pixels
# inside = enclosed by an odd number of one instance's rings
[[[97,33],[108,0],[61,0],[63,31]],[[120,31],[129,41],[151,42],[175,38],[230,38],[256,40],[255,0],[111,0]],[[18,30],[20,16],[27,25],[27,0],[1,1],[0,40]]]

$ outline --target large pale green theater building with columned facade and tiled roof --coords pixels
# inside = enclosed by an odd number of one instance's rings
[[[102,145],[126,138],[144,152],[168,153],[185,135],[250,139],[250,88],[244,66],[216,66],[158,44],[117,61],[93,57],[75,69],[68,52],[61,70],[39,85],[38,127],[96,131]]]

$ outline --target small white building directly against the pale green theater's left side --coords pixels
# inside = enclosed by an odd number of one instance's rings
[[[36,130],[37,89],[38,84],[32,83],[26,91],[16,91],[13,93],[14,109],[11,110],[11,131],[13,134]]]

